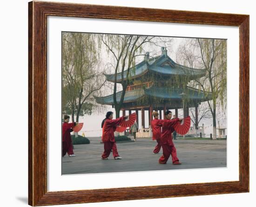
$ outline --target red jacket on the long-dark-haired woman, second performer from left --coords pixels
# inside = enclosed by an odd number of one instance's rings
[[[125,120],[124,116],[114,120],[106,119],[102,128],[101,140],[103,142],[105,141],[115,142],[115,135],[114,135],[115,129],[123,120]]]

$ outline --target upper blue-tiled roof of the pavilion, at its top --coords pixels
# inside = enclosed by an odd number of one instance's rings
[[[191,76],[191,80],[206,75],[206,69],[190,68],[177,64],[167,55],[167,53],[162,53],[162,55],[141,61],[134,67],[130,68],[129,75],[131,78],[136,78],[148,72],[169,77],[172,75],[186,75]],[[115,74],[104,75],[108,81],[115,81]],[[122,80],[122,73],[117,73],[116,78],[117,82],[120,82]],[[123,72],[123,78],[124,80],[127,78],[127,70]]]

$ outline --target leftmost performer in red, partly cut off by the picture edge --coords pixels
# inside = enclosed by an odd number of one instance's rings
[[[76,123],[68,123],[69,118],[68,115],[64,115],[64,122],[62,124],[62,157],[66,154],[69,157],[75,157],[70,132],[73,132],[73,127]]]

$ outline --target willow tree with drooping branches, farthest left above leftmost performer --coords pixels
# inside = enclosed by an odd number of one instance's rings
[[[97,67],[97,40],[98,34],[62,33],[62,111],[71,114],[72,121],[92,113],[93,95],[105,83]]]

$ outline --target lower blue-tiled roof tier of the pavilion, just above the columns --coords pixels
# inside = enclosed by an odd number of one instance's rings
[[[122,91],[117,93],[117,102],[119,102],[121,99],[121,93]],[[198,89],[192,87],[188,87],[187,89],[183,90],[182,88],[162,88],[152,86],[148,88],[127,91],[125,93],[123,103],[137,101],[143,99],[143,97],[145,96],[158,98],[159,100],[182,100],[182,97],[179,95],[181,93],[186,93],[186,99],[188,100],[206,101],[211,99],[210,93],[207,95],[203,93],[203,91],[199,91]],[[94,96],[94,98],[96,99],[96,102],[99,104],[114,104],[113,94],[105,97]]]

